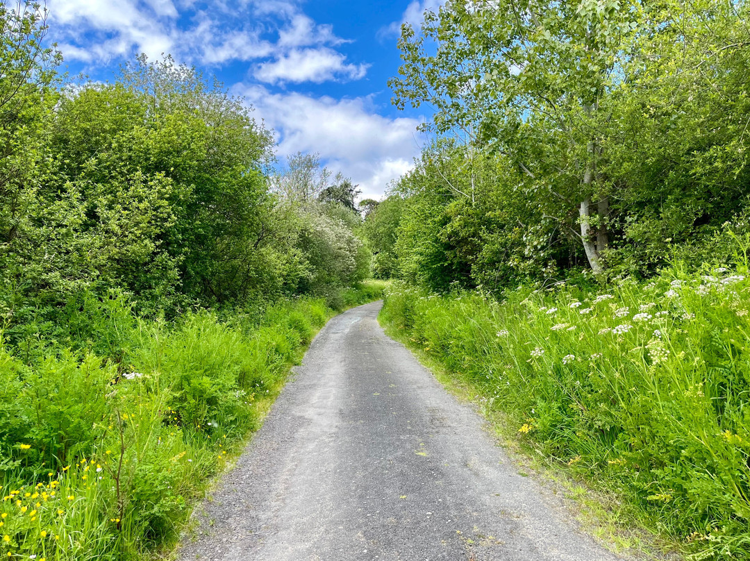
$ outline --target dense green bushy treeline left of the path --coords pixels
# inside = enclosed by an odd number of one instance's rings
[[[138,58],[113,83],[66,82],[58,52],[43,48],[43,17],[30,3],[0,11],[6,338],[91,291],[175,314],[333,298],[369,275],[347,178],[298,155],[286,190],[273,189],[272,133],[219,83],[169,57]],[[331,181],[300,198],[311,188],[305,174]]]

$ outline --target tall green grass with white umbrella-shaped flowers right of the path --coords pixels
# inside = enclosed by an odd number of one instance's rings
[[[695,559],[750,558],[747,269],[673,266],[605,293],[497,302],[404,284],[383,318],[505,412],[518,437],[608,481]]]

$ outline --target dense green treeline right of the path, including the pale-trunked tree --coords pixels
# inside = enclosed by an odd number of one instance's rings
[[[728,257],[750,193],[748,11],[452,1],[404,26],[395,103],[434,108],[437,139],[368,217],[377,273],[499,292]]]

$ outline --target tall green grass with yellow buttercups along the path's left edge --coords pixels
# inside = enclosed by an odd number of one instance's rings
[[[0,557],[142,559],[169,544],[333,313],[303,298],[166,323],[87,296],[56,341],[0,345]]]

